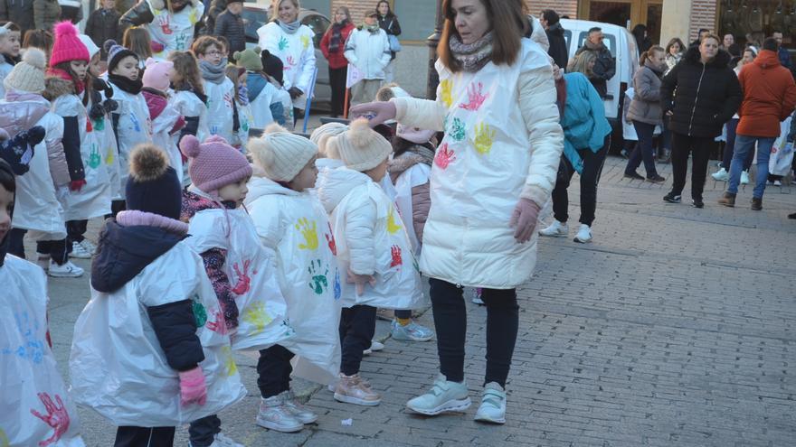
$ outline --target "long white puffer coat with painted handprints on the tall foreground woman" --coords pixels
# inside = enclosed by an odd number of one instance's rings
[[[440,61],[437,100],[393,98],[404,126],[445,130],[431,170],[423,274],[453,284],[515,288],[533,273],[536,235],[518,244],[517,201],[550,196],[564,149],[545,51],[522,40],[511,66],[451,73]]]

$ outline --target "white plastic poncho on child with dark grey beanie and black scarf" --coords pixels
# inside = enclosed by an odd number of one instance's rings
[[[130,151],[137,144],[152,142],[152,120],[149,119],[149,107],[144,95],[133,95],[113,82],[113,98],[118,102],[114,114],[118,114],[118,182],[119,195],[124,199],[125,188],[129,177]]]

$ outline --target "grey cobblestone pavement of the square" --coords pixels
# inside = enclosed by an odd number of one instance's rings
[[[796,221],[786,215],[796,211],[796,187],[768,188],[763,211],[755,212],[751,188],[726,209],[715,204],[724,183],[710,180],[706,208],[696,210],[661,200],[670,182],[622,179],[623,166],[621,159],[606,163],[592,244],[540,242],[535,275],[519,290],[507,424],[472,421],[486,348],[485,309],[472,305],[466,369],[474,405],[466,414],[408,414],[405,402],[437,374],[436,346],[386,339],[384,351],[362,366],[382,405],[340,404],[326,389],[294,381],[320,414],[317,425],[296,434],[253,424],[256,358],[240,355],[250,396],[221,414],[224,430],[247,446],[793,445]],[[670,176],[668,166],[660,172]],[[574,236],[577,182],[570,192]],[[98,226],[92,222],[92,231]],[[87,283],[50,285],[64,375]],[[431,325],[431,312],[421,321]],[[381,321],[377,335],[387,332]],[[89,410],[80,415],[89,445],[112,444],[113,427]],[[350,426],[341,424],[348,418]],[[176,444],[186,445],[185,427]]]

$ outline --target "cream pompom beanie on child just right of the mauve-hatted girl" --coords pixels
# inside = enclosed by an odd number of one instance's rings
[[[290,182],[317,155],[317,145],[280,125],[270,125],[248,145],[254,163],[274,182]]]

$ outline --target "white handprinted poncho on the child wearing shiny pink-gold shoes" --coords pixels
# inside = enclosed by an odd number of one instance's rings
[[[412,243],[382,188],[364,173],[342,167],[325,169],[317,191],[331,213],[340,271],[347,273],[350,266],[355,274],[374,274],[376,280],[375,286],[365,284],[362,295],[355,293],[354,284],[344,282],[343,306],[419,309],[426,305]]]

